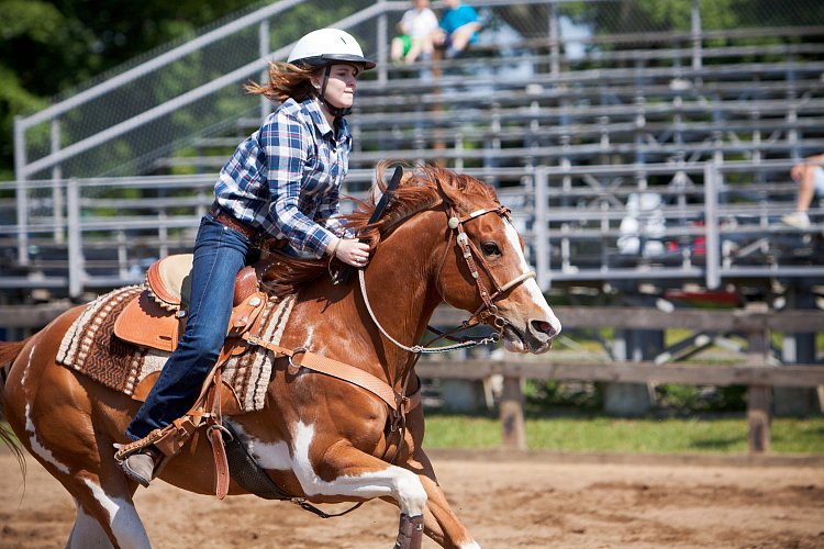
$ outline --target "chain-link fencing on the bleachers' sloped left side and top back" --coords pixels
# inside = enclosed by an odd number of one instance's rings
[[[441,8],[439,2],[433,5]],[[746,33],[750,27],[824,22],[820,2],[810,0],[479,0],[475,5],[483,22],[481,47],[498,48],[501,56],[517,56],[524,45],[533,53],[542,44],[557,47],[559,70],[591,68],[599,59],[600,66],[614,65],[615,52],[639,44],[694,46],[701,32],[705,46],[746,44],[755,40]],[[408,7],[400,1],[285,0],[203,29],[190,41],[152,52],[141,64],[111,71],[21,121],[18,178],[49,177],[55,169],[63,177],[151,171],[156,158],[193,136],[233,134],[237,119],[257,115],[257,100],[245,96],[241,85],[265,79],[265,59],[282,59],[309,30],[346,27],[367,55],[386,66],[387,42]],[[757,40],[766,38],[761,33]],[[784,32],[771,40],[800,37]],[[377,77],[386,78],[386,72]]]

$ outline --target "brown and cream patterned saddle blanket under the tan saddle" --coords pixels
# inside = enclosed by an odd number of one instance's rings
[[[121,288],[89,303],[63,337],[57,361],[133,396],[137,384],[162,370],[170,355],[123,341],[114,335],[118,314],[145,289],[144,284]],[[259,336],[278,345],[293,305],[294,295],[269,298],[258,318]],[[235,392],[244,412],[264,407],[272,367],[271,352],[257,346],[233,355],[223,366],[223,381]]]

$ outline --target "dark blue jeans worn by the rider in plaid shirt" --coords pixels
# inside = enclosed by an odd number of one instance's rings
[[[183,337],[126,428],[127,437],[140,440],[182,417],[194,405],[226,338],[237,271],[256,255],[257,249],[246,236],[211,214],[203,216],[194,242]]]

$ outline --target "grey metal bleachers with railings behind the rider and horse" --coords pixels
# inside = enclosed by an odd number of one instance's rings
[[[187,250],[216,171],[270,109],[240,97],[238,83],[261,78],[300,35],[279,22],[326,3],[243,14],[205,30],[197,47],[176,46],[19,121],[18,180],[0,183],[3,301],[33,291],[79,299],[138,282],[154,258]],[[381,63],[349,119],[348,193],[366,191],[385,158],[479,177],[512,208],[546,290],[824,283],[822,204],[809,229],[780,221],[794,209],[790,168],[824,152],[824,25],[804,23],[802,0],[789,2],[798,21],[781,27],[714,29],[693,12],[689,31],[575,37],[558,24],[572,2],[474,3],[485,22],[477,46],[403,68],[388,63],[386,44],[407,2],[352,2],[326,23]],[[201,75],[108,125],[69,125],[232,32],[252,42],[238,68],[221,67],[211,82]],[[200,123],[183,131],[187,119]]]

